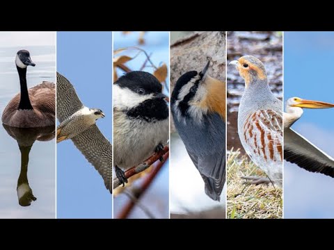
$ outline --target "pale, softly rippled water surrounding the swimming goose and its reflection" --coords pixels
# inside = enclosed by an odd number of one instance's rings
[[[0,117],[8,102],[20,91],[15,65],[17,51],[27,49],[35,67],[28,67],[28,88],[51,81],[56,77],[56,32],[0,33]],[[0,217],[55,218],[56,217],[56,142],[35,141],[36,130],[8,129],[0,126]],[[9,135],[10,134],[10,135]],[[21,140],[19,140],[21,139]],[[20,174],[19,144],[32,145],[29,154],[29,185],[37,198],[31,206],[19,206],[17,180]]]

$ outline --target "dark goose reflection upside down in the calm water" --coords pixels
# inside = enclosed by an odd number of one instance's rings
[[[33,143],[38,140],[47,142],[54,139],[54,126],[45,126],[40,128],[16,128],[2,124],[10,137],[14,138],[19,145],[21,152],[21,172],[17,180],[17,198],[20,206],[30,206],[32,201],[37,198],[33,196],[33,190],[29,186],[28,181],[28,163],[29,153],[33,147]]]

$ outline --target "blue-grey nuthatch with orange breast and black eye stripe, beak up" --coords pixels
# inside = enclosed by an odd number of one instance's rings
[[[186,72],[171,97],[175,128],[205,183],[205,193],[220,201],[225,183],[225,84],[202,72]]]

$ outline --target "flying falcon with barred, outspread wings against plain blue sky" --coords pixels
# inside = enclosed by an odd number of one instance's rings
[[[96,121],[104,117],[102,110],[81,103],[73,85],[57,72],[57,142],[71,139],[104,179],[111,192],[112,147],[102,135]]]

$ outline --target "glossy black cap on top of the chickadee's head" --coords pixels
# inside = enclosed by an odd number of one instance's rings
[[[148,72],[129,72],[115,82],[120,88],[128,88],[137,94],[161,93],[162,85]]]

